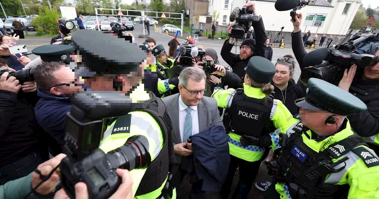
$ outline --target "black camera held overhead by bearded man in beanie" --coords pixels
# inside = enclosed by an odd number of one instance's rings
[[[236,25],[232,28],[230,32],[231,38],[243,39],[245,33],[249,31],[252,21],[259,21],[260,16],[253,15],[253,12],[249,10],[246,6],[240,9],[240,14],[236,18]]]

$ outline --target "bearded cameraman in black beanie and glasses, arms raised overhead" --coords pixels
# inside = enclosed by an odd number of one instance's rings
[[[255,15],[257,15],[257,9],[255,7],[255,1],[249,1],[245,4],[249,8],[250,11],[253,11]],[[235,24],[232,24],[228,27],[228,33],[230,34],[232,28]],[[266,32],[265,26],[263,25],[262,18],[259,21],[252,21],[252,27],[254,28],[254,33],[257,37],[254,39],[246,39],[242,42],[240,46],[240,54],[236,55],[231,53],[230,51],[233,48],[235,43],[235,38],[227,39],[224,42],[224,45],[221,49],[221,57],[226,61],[227,64],[232,67],[233,72],[238,75],[238,77],[243,78],[246,74],[244,68],[247,66],[249,59],[252,56],[262,56],[265,57],[266,53]]]

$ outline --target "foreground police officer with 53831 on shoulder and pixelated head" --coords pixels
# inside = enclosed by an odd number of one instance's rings
[[[103,39],[108,41],[106,45],[100,42]],[[148,104],[144,109],[109,119],[100,149],[107,153],[124,145],[131,136],[145,136],[149,141],[151,163],[146,169],[130,171],[133,196],[138,199],[161,198],[166,190],[164,185],[169,182],[169,161],[174,160],[173,141],[168,134],[171,121],[161,99],[148,92],[141,82],[146,52],[138,44],[99,31],[75,31],[72,41],[81,55],[75,74],[83,78],[84,86],[91,91],[117,91],[127,94],[133,103]],[[125,49],[132,53],[122,53],[122,56],[114,53],[125,52]],[[175,192],[168,195],[176,197]]]

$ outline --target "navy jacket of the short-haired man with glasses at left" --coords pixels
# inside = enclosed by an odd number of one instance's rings
[[[36,104],[36,119],[41,127],[55,139],[54,153],[60,153],[64,146],[64,126],[66,125],[66,113],[71,109],[69,97],[47,94],[41,89],[37,89],[37,94],[41,99]],[[53,154],[57,155],[57,154]]]

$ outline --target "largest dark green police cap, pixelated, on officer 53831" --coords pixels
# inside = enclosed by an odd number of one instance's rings
[[[77,30],[72,34],[71,39],[85,65],[75,69],[78,76],[129,74],[137,71],[139,65],[146,60],[146,52],[138,44],[130,43],[112,34]]]

